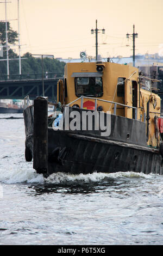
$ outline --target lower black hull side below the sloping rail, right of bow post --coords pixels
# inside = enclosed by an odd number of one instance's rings
[[[148,150],[127,143],[48,131],[49,149],[60,148],[58,159],[49,155],[48,175],[54,172],[72,174],[93,172],[143,172],[163,174],[158,150]],[[134,148],[135,147],[135,148]],[[161,166],[162,165],[162,166]]]

